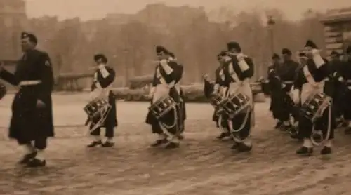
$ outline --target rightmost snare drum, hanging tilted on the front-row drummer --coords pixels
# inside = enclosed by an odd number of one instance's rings
[[[311,121],[322,116],[324,110],[331,105],[331,97],[324,93],[310,95],[300,109],[303,116]]]

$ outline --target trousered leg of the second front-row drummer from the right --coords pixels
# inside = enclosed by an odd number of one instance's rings
[[[232,121],[232,128],[233,131],[240,130],[238,133],[232,132],[234,135],[234,145],[232,146],[232,149],[238,149],[239,152],[251,151],[251,112],[235,116]],[[241,140],[244,141],[241,142]]]

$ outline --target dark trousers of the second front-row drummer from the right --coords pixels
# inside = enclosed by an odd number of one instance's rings
[[[252,112],[252,111],[251,111]],[[246,116],[246,113],[237,114],[237,116],[232,119],[233,130],[238,130],[244,123],[244,128],[239,131],[239,133],[234,133],[234,135],[239,136],[241,139],[246,139],[250,135],[251,129],[251,112]],[[247,118],[246,118],[247,117]],[[246,121],[244,121],[246,119]]]

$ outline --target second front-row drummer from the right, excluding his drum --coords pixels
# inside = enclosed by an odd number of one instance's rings
[[[224,67],[225,77],[228,78],[226,83],[228,95],[241,93],[249,97],[249,109],[234,116],[232,126],[229,126],[234,137],[232,149],[238,152],[249,152],[252,149],[251,128],[253,127],[253,94],[250,86],[250,79],[253,76],[253,61],[241,51],[239,43],[231,41],[227,43],[227,55],[230,57],[230,63]],[[234,133],[234,131],[239,132]]]

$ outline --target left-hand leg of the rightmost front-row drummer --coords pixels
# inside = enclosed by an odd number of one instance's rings
[[[311,141],[312,123],[310,119],[300,116],[298,120],[298,129],[300,136],[303,138],[303,146],[296,151],[296,154],[309,155],[313,152],[313,144]]]

